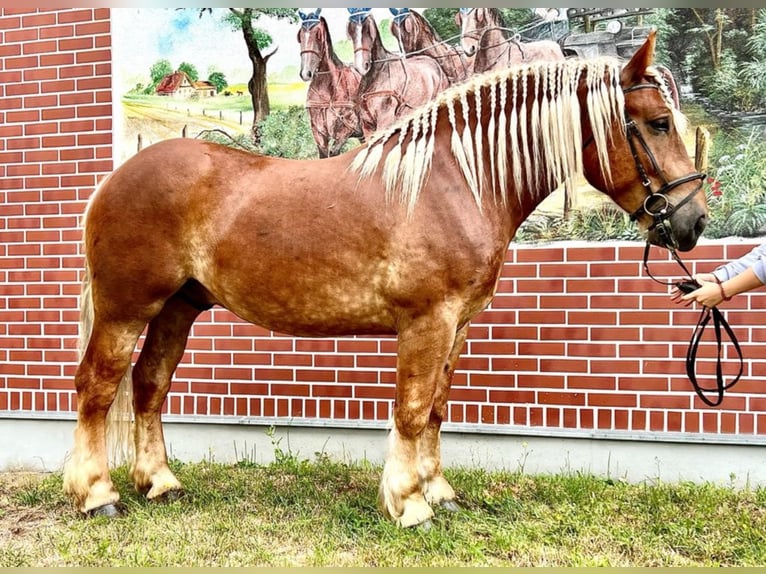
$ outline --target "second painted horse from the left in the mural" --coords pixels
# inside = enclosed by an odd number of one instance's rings
[[[449,87],[449,79],[430,56],[389,52],[369,8],[348,11],[346,31],[354,46],[354,67],[362,74],[357,103],[369,137],[433,99]]]

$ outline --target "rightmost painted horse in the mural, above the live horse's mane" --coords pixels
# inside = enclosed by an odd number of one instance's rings
[[[556,42],[521,42],[512,36],[498,8],[461,8],[455,21],[460,28],[460,45],[468,56],[473,56],[476,73],[524,62],[564,59]]]

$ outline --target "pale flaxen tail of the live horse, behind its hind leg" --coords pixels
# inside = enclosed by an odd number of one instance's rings
[[[103,183],[102,183],[103,185]],[[85,245],[85,232],[87,224],[88,210],[93,197],[98,190],[91,196],[91,201],[85,209],[82,218],[82,236],[83,246]],[[84,249],[84,248],[83,248]],[[85,255],[85,274],[82,281],[82,290],[80,292],[80,333],[78,341],[78,362],[82,361],[85,352],[90,343],[90,336],[93,332],[93,292],[91,290],[92,274],[88,265],[87,253]],[[134,449],[132,437],[133,426],[133,377],[131,366],[128,365],[125,373],[120,380],[112,406],[106,417],[106,444],[107,454],[113,466],[118,466],[124,462],[133,460]]]

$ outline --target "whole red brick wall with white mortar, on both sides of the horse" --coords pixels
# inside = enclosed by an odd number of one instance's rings
[[[108,9],[0,11],[0,417],[75,410],[78,218],[112,169],[110,74]],[[688,259],[707,271],[756,243],[703,244]],[[698,312],[642,278],[642,250],[514,245],[497,297],[471,328],[450,421],[766,434],[766,292],[725,305],[745,375],[707,408],[683,370]],[[654,257],[654,273],[677,276]],[[166,412],[382,424],[395,350],[387,338],[294,339],[214,309],[193,328]],[[713,353],[700,350],[702,371],[712,372]]]

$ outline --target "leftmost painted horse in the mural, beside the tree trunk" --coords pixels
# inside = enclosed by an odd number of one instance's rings
[[[341,62],[335,54],[327,21],[314,12],[298,11],[301,27],[300,76],[309,84],[306,110],[319,157],[340,153],[349,138],[362,138],[362,123],[356,107],[361,76],[352,66]]]

